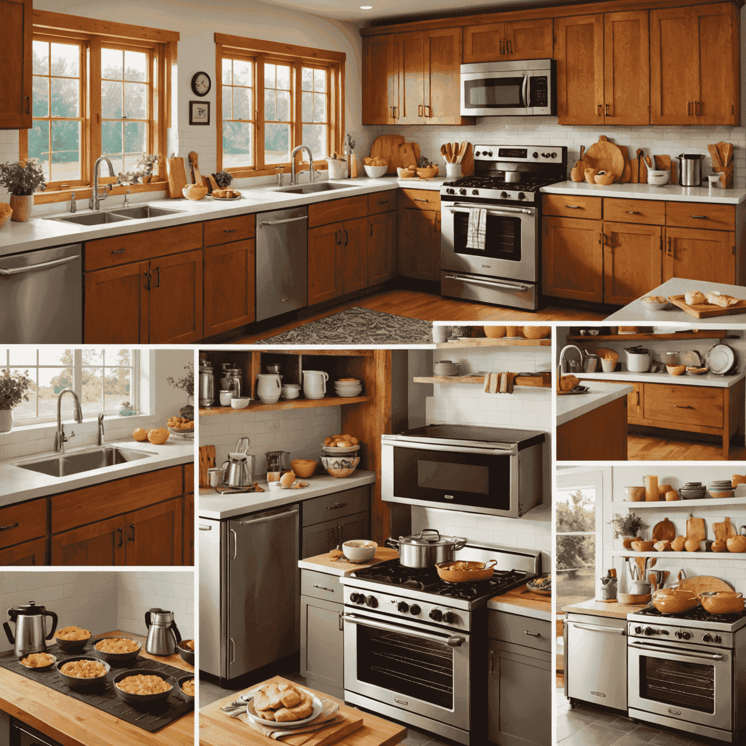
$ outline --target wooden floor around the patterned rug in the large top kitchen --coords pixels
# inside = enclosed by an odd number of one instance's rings
[[[570,308],[548,306],[536,313],[528,313],[527,311],[511,308],[499,308],[478,303],[463,303],[463,301],[441,298],[440,295],[431,295],[427,292],[387,290],[327,309],[303,321],[292,322],[258,334],[242,336],[239,339],[234,339],[233,344],[245,345],[257,342],[260,339],[275,336],[284,331],[316,321],[316,319],[324,319],[333,313],[353,307],[370,308],[374,311],[394,313],[397,316],[407,316],[409,319],[425,319],[430,322],[505,321],[530,324],[532,322],[544,321],[601,321],[605,318],[603,313],[577,311]]]

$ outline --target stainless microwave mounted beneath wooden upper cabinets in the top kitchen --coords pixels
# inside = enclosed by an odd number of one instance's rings
[[[461,66],[461,116],[557,114],[554,60],[480,62]]]

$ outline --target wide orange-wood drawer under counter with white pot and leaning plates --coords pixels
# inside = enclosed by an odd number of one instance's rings
[[[646,420],[723,427],[723,392],[728,389],[645,383],[644,390],[642,411]]]

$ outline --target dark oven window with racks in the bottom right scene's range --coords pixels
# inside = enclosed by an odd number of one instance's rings
[[[715,668],[640,656],[640,696],[700,712],[715,712]]]

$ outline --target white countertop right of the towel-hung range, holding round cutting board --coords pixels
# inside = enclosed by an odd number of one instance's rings
[[[746,201],[746,189],[710,189],[709,186],[679,186],[666,184],[588,184],[587,181],[560,181],[542,186],[545,194],[582,194],[589,197],[621,197],[626,199],[659,199],[666,202],[714,202],[740,204]]]

